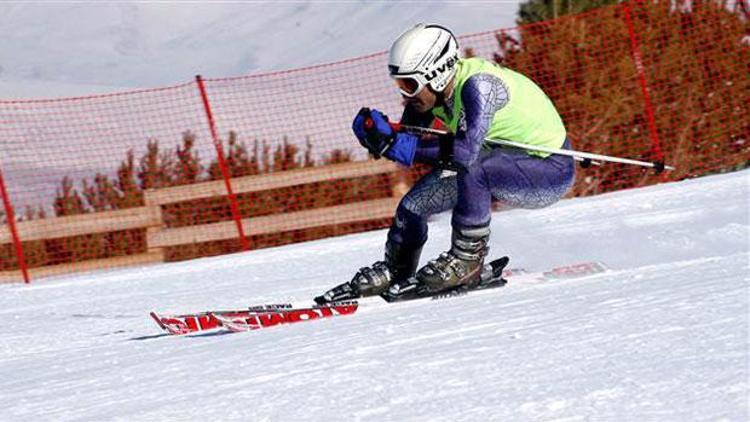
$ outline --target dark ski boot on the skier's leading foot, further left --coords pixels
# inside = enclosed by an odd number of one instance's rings
[[[316,297],[315,302],[322,305],[379,295],[385,292],[392,283],[412,277],[419,265],[421,253],[421,246],[405,248],[399,243],[388,240],[385,244],[383,261],[378,261],[370,267],[360,268],[351,281],[340,284]]]

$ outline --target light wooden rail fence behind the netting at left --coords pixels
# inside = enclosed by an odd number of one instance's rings
[[[242,219],[245,236],[255,236],[388,218],[393,215],[398,201],[406,190],[401,177],[398,176],[400,171],[399,167],[390,161],[364,161],[239,177],[231,179],[231,184],[233,192],[240,194],[378,174],[395,176],[391,178],[392,195],[388,198]],[[164,223],[162,207],[165,205],[226,195],[227,188],[223,180],[203,182],[147,190],[144,194],[145,206],[142,207],[19,222],[16,227],[19,237],[24,242],[146,229],[145,253],[30,268],[29,275],[34,279],[164,262],[167,247],[237,238],[238,224],[232,220],[178,228],[168,228]],[[8,227],[0,227],[0,244],[12,242],[12,233]],[[0,282],[20,281],[21,277],[20,270],[0,272]]]

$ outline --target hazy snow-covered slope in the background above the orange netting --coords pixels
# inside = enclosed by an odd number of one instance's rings
[[[0,99],[84,95],[384,51],[417,22],[514,26],[518,0],[3,2]],[[79,90],[75,85],[82,85]],[[97,87],[100,86],[100,87]],[[121,90],[121,89],[119,89]]]

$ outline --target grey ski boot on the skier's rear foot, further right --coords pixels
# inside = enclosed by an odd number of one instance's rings
[[[452,247],[417,272],[417,280],[427,292],[453,287],[474,287],[481,280],[490,227],[453,228]]]

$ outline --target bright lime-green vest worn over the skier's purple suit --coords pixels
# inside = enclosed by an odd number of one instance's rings
[[[565,142],[566,132],[560,115],[549,97],[531,79],[508,68],[498,66],[481,58],[458,61],[453,89],[453,113],[448,115],[444,107],[435,107],[432,114],[442,120],[456,133],[463,115],[461,91],[464,83],[477,73],[489,73],[498,77],[508,90],[508,103],[495,112],[486,137],[504,139],[522,144],[560,148]],[[487,146],[487,142],[483,146]],[[547,157],[550,154],[528,151],[530,155]]]

